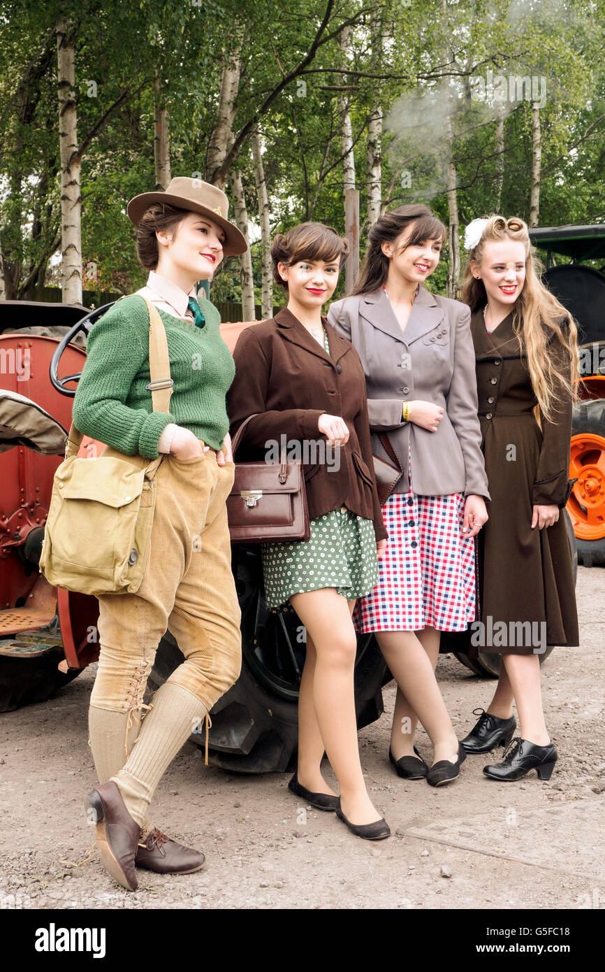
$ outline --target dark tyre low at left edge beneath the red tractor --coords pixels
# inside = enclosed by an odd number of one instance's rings
[[[68,682],[80,675],[80,669],[63,674],[58,664],[62,650],[49,651],[37,658],[0,655],[0,712],[14,712],[19,706],[46,702]]]

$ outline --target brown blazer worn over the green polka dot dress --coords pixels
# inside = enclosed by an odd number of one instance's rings
[[[346,505],[373,520],[377,540],[384,539],[388,534],[376,490],[363,368],[351,342],[322,321],[329,355],[286,307],[240,334],[233,352],[235,379],[227,394],[231,435],[249,415],[260,414],[246,427],[237,459],[264,459],[266,442],[280,441],[282,434],[288,443],[324,444],[319,416],[341,416],[350,437],[340,448],[340,469],[321,462],[304,466],[309,516],[315,520]]]

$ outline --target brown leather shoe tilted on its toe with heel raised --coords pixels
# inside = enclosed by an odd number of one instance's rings
[[[115,782],[99,783],[84,797],[84,809],[96,824],[101,864],[107,873],[128,891],[139,886],[134,856],[141,827],[126,810]]]

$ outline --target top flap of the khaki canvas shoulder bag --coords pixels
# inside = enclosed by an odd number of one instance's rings
[[[141,495],[145,469],[122,459],[68,459],[56,470],[55,483],[65,500],[94,500],[107,506],[125,506]]]

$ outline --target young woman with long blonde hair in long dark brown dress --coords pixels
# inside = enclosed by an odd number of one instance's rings
[[[572,487],[577,329],[540,282],[521,219],[490,216],[471,226],[462,299],[472,312],[491,501],[478,537],[481,626],[471,625],[470,642],[499,652],[502,664],[487,712],[462,745],[489,752],[512,741],[502,762],[484,767],[487,777],[513,781],[535,769],[548,780],[557,754],[542,709],[539,655],[547,645],[579,643],[560,515]],[[514,740],[513,702],[521,722]]]

